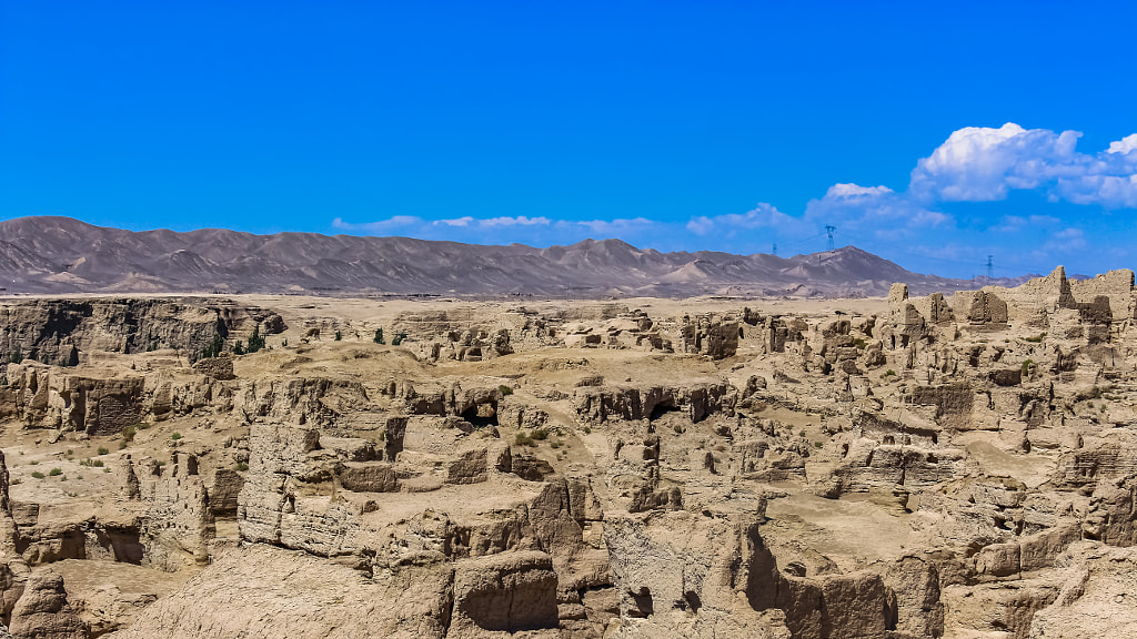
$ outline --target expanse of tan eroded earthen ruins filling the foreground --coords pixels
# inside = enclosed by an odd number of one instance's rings
[[[84,342],[7,366],[0,621],[1128,637],[1134,299],[1059,271],[875,313],[301,306],[196,364]]]

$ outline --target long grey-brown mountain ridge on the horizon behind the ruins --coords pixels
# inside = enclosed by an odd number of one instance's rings
[[[539,249],[409,238],[207,229],[133,232],[69,217],[0,223],[0,277],[9,293],[314,293],[691,297],[881,296],[978,288],[921,275],[855,247],[782,258],[659,252],[620,240]],[[1013,285],[1012,280],[991,283]]]

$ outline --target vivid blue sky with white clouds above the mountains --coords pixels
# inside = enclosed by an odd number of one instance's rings
[[[1137,9],[0,0],[0,217],[1137,266]]]

